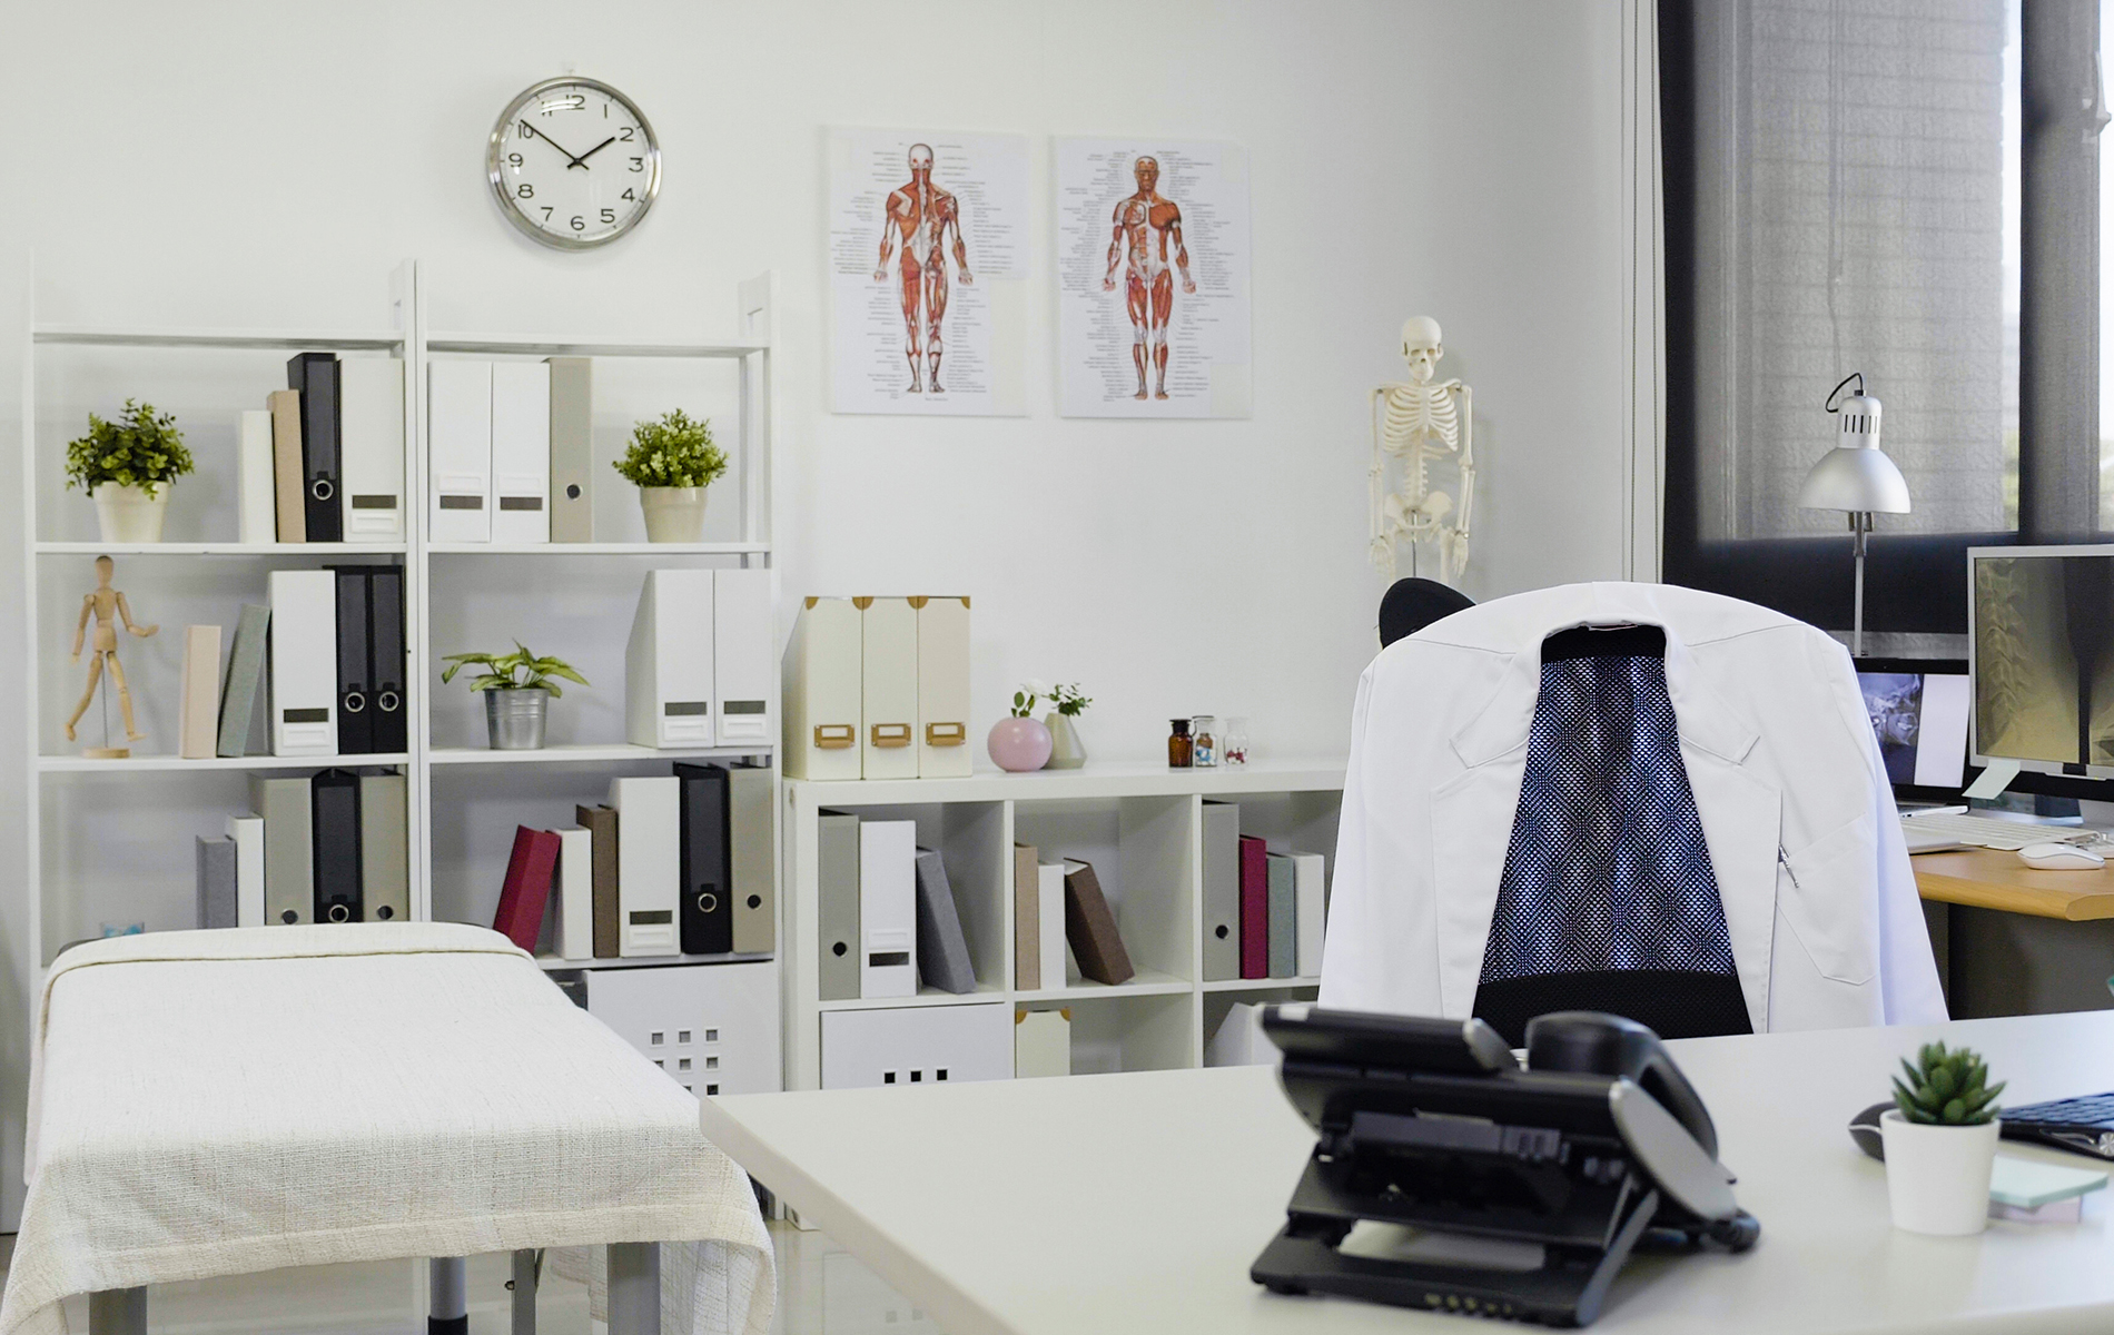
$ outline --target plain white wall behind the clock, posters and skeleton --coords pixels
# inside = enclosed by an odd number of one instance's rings
[[[1469,589],[1621,572],[1617,0],[0,0],[0,32],[8,249],[34,245],[44,321],[376,325],[419,256],[435,327],[710,336],[774,268],[784,589],[972,594],[979,729],[1021,676],[1078,678],[1097,756],[1156,756],[1203,710],[1249,714],[1258,754],[1340,752],[1380,591],[1366,395],[1412,313],[1476,387]],[[507,97],[567,68],[626,89],[664,146],[653,215],[605,253],[518,237],[482,180]],[[827,412],[827,125],[1032,135],[1030,416]],[[1049,135],[1133,131],[1251,154],[1254,420],[1053,416]],[[23,285],[0,272],[0,477]],[[8,1005],[32,965],[17,877],[0,858]],[[23,1027],[0,1014],[15,1107]]]

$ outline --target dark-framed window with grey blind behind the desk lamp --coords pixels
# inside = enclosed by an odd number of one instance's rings
[[[1968,545],[2114,518],[2097,4],[1659,2],[1668,581],[1850,625],[1846,518],[1797,505],[1850,372],[1913,501],[1869,627],[1960,634]]]

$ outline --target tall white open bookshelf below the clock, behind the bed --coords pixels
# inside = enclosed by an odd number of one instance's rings
[[[247,811],[252,773],[328,767],[404,771],[410,790],[412,917],[490,923],[514,824],[571,824],[571,805],[602,801],[615,773],[666,773],[670,760],[687,758],[776,758],[774,744],[696,750],[630,746],[622,722],[622,655],[643,570],[655,564],[776,564],[769,503],[772,277],[740,285],[727,325],[734,338],[723,342],[545,332],[429,336],[425,283],[427,275],[410,260],[391,275],[385,330],[300,323],[275,330],[51,325],[38,323],[32,311],[23,359],[21,477],[27,585],[21,634],[30,644],[30,813],[23,868],[32,887],[30,934],[38,942],[40,965],[68,940],[93,936],[99,921],[146,921],[150,929],[188,925],[192,834],[218,834],[226,815]],[[264,393],[285,384],[283,361],[298,351],[381,355],[404,363],[404,541],[237,541],[235,422],[241,410],[262,408]],[[598,526],[609,520],[611,541],[427,541],[427,365],[440,357],[560,355],[598,359],[596,469],[602,471],[596,482],[607,494],[596,507],[596,520]],[[622,448],[628,420],[605,420],[605,368],[613,380],[630,387],[630,399],[617,395],[628,418],[657,412],[645,408],[655,399],[668,399],[670,406],[681,401],[693,410],[702,403],[710,412],[715,435],[734,463],[729,477],[712,492],[719,515],[708,528],[712,541],[643,541],[632,488],[607,471]],[[78,492],[63,492],[59,484],[63,444],[85,429],[87,412],[108,416],[127,395],[173,410],[199,463],[199,473],[178,484],[169,515],[171,541],[165,543],[95,541],[93,503]],[[624,509],[626,501],[630,511]],[[120,760],[80,756],[80,746],[93,746],[101,737],[97,710],[82,718],[76,744],[66,744],[57,727],[82,682],[80,670],[66,655],[78,598],[93,587],[93,558],[106,553],[118,558],[116,583],[127,591],[135,617],[161,625],[161,634],[150,640],[125,636],[120,642],[133,701],[150,733],[131,758]],[[520,558],[533,558],[533,564],[522,566]],[[175,663],[182,659],[184,625],[233,627],[239,604],[264,600],[271,570],[340,562],[404,566],[410,750],[205,760],[154,754],[175,750]],[[548,598],[545,585],[554,589]],[[503,606],[505,617],[533,625],[524,638],[539,653],[596,663],[590,672],[592,691],[569,687],[564,699],[554,701],[554,746],[548,750],[486,750],[482,722],[467,727],[478,708],[476,697],[461,682],[440,684],[442,655],[503,648],[518,634],[484,625],[478,608],[486,602]],[[110,716],[116,720],[114,701]],[[571,970],[742,959],[759,957],[541,963],[548,970]]]

